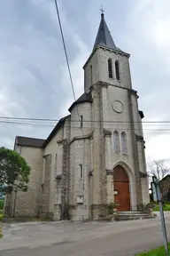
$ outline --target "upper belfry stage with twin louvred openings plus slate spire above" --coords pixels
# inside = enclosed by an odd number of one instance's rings
[[[99,81],[131,89],[129,57],[114,43],[102,12],[93,50],[83,67],[84,91]]]

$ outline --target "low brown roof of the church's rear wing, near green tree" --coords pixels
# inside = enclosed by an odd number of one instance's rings
[[[44,141],[45,140],[42,140],[42,139],[17,136],[15,143],[20,146],[42,148]]]

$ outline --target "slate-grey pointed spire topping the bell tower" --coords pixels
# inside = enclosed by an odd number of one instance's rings
[[[107,24],[104,20],[104,13],[101,14],[101,21],[98,28],[97,38],[93,50],[95,50],[99,45],[110,48],[115,51],[122,52],[118,47],[116,47],[116,44],[114,44],[111,32],[109,31],[109,28],[107,27]]]

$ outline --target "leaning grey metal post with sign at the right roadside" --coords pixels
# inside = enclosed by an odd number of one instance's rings
[[[169,256],[169,250],[168,250],[168,244],[167,244],[167,234],[166,234],[166,221],[165,221],[165,217],[164,217],[159,183],[158,183],[157,177],[155,177],[155,176],[152,177],[152,180],[153,181],[151,182],[151,190],[152,190],[152,194],[153,194],[153,200],[158,202],[166,256]]]

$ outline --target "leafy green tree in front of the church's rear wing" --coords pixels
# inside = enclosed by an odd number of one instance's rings
[[[0,148],[0,192],[27,191],[31,168],[16,151]]]

